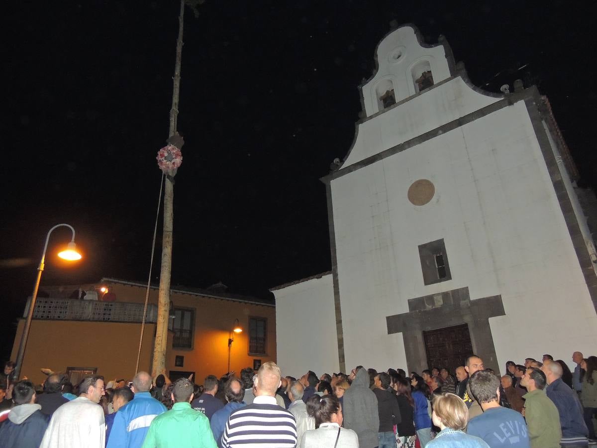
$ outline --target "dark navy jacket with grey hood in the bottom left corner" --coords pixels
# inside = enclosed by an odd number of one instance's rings
[[[19,404],[0,425],[0,441],[4,448],[37,448],[44,437],[50,418],[39,404]]]

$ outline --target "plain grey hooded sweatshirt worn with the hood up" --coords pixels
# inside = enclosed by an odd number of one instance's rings
[[[359,437],[359,447],[373,448],[378,445],[379,414],[377,397],[369,388],[367,369],[360,369],[344,392],[344,428],[352,429]]]

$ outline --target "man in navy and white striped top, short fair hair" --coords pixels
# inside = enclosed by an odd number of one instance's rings
[[[221,438],[224,448],[294,448],[297,428],[294,416],[276,404],[276,390],[280,386],[280,368],[268,361],[261,365],[255,379],[255,399],[235,410]]]

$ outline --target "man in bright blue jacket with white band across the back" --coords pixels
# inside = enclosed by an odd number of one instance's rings
[[[139,372],[133,378],[133,400],[122,406],[112,425],[106,448],[140,448],[149,425],[156,416],[166,412],[166,407],[149,393],[152,378],[147,372]]]

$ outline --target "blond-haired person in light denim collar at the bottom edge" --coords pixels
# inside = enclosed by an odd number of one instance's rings
[[[489,448],[479,437],[464,432],[469,420],[469,409],[455,394],[436,395],[433,399],[433,424],[441,431],[427,444],[429,448]]]

